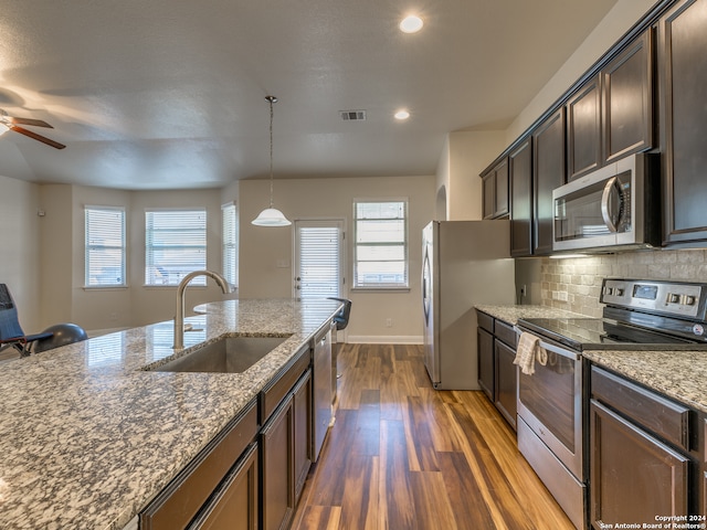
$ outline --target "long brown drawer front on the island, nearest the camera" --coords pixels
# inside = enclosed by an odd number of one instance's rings
[[[141,530],[184,528],[257,434],[253,402],[140,513]]]

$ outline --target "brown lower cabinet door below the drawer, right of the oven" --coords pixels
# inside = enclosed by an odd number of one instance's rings
[[[591,522],[688,515],[689,458],[592,400]]]

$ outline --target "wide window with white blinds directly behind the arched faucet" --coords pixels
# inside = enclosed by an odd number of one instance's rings
[[[207,211],[145,212],[145,284],[178,285],[192,271],[207,268]],[[198,276],[192,285],[207,285]]]

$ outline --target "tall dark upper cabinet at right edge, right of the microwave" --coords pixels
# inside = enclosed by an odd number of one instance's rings
[[[664,243],[707,241],[707,1],[677,2],[658,24]]]

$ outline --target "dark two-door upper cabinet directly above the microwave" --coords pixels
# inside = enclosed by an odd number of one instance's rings
[[[639,35],[567,102],[568,181],[653,147],[652,35]]]

